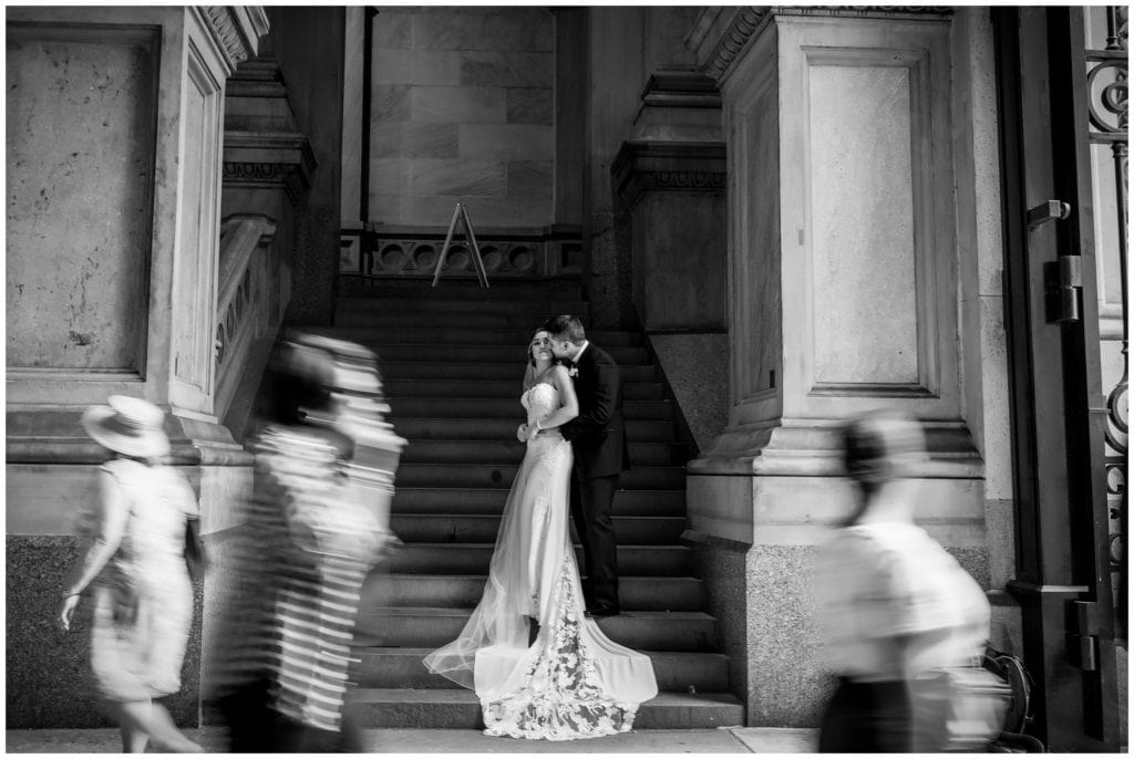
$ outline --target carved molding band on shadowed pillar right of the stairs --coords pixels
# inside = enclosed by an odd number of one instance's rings
[[[631,140],[610,168],[618,195],[633,206],[643,193],[723,193],[723,143]]]

